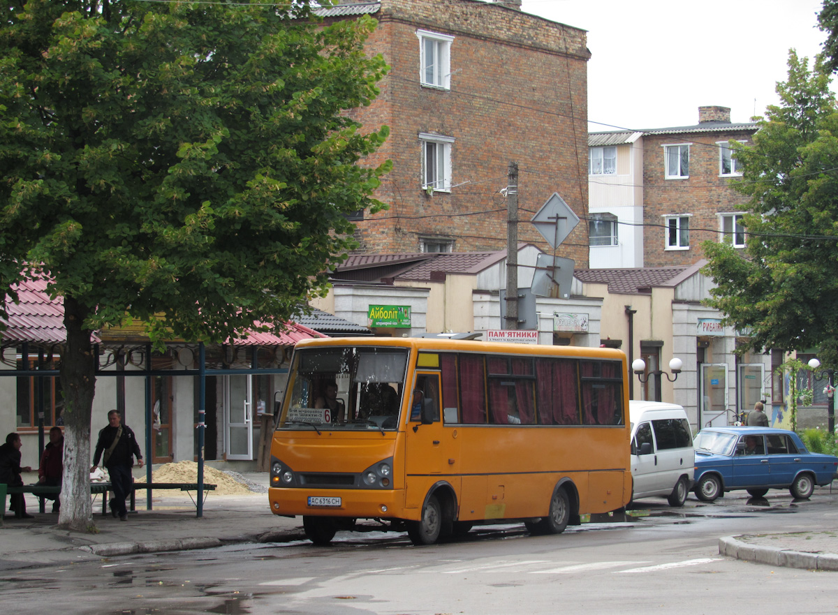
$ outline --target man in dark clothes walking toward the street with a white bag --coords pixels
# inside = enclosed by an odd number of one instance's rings
[[[142,468],[142,453],[140,445],[137,444],[137,437],[131,431],[131,427],[122,425],[122,415],[119,411],[111,410],[107,413],[108,426],[99,432],[99,440],[96,442],[96,452],[93,455],[93,467],[91,472],[99,465],[99,457],[102,452],[105,458],[102,463],[111,476],[111,514],[121,521],[128,519],[128,511],[125,508],[125,499],[131,493],[134,477],[131,468],[134,465],[132,457],[137,457],[137,465]]]

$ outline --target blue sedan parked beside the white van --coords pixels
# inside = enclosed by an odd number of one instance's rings
[[[838,457],[806,450],[800,437],[770,427],[708,427],[696,434],[696,497],[712,502],[726,491],[746,489],[761,498],[768,489],[789,489],[807,499],[828,485]]]

